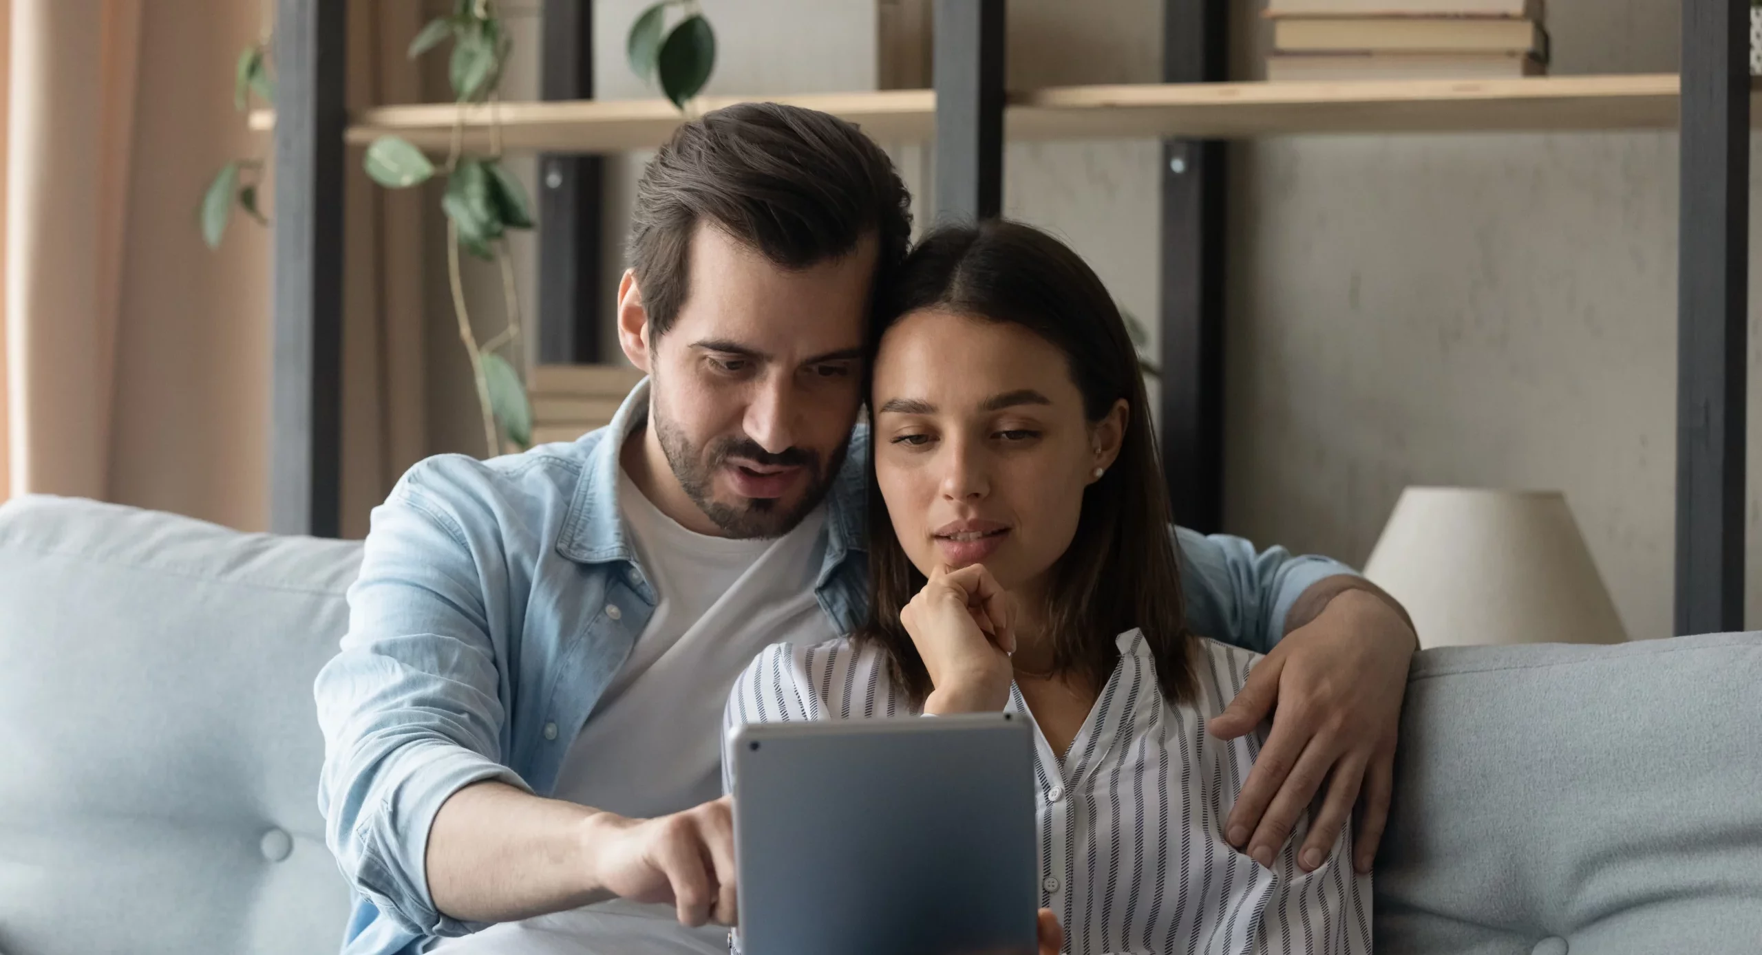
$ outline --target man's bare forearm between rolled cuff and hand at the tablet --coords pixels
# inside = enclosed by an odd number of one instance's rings
[[[513,922],[610,899],[590,858],[597,809],[506,782],[453,793],[428,830],[428,892],[460,922]]]

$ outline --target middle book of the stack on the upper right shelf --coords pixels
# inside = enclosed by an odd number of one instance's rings
[[[1547,62],[1547,33],[1528,19],[1276,19],[1277,53],[1524,53]]]

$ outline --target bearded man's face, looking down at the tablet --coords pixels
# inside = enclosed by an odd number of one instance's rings
[[[825,499],[862,405],[874,271],[872,238],[789,271],[712,226],[692,236],[685,305],[631,358],[673,476],[724,534],[786,534]]]

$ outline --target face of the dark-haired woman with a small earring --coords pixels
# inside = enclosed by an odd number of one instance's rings
[[[886,331],[872,400],[876,479],[906,557],[925,576],[985,564],[1008,590],[1038,585],[1071,544],[1126,423],[1126,402],[1084,418],[1045,338],[943,308]]]

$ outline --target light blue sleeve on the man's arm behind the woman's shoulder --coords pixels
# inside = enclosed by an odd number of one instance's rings
[[[1281,546],[1255,544],[1228,534],[1175,529],[1181,552],[1181,589],[1188,624],[1212,640],[1265,654],[1284,636],[1292,604],[1320,580],[1359,576],[1318,555],[1292,555]]]

